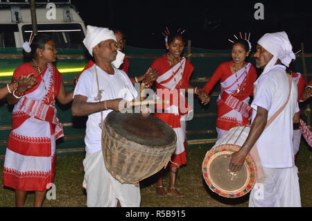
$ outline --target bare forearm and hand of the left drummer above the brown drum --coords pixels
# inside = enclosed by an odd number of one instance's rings
[[[121,98],[113,100],[104,100],[96,103],[87,102],[87,97],[82,95],[76,95],[73,98],[73,104],[71,105],[71,113],[73,116],[87,116],[96,112],[101,112],[106,109],[114,109],[119,111],[119,103]]]

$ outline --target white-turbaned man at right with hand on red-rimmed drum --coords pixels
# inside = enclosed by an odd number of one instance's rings
[[[295,55],[285,32],[268,33],[257,43],[254,57],[263,72],[254,82],[252,125],[241,149],[232,154],[229,170],[240,170],[255,145],[264,179],[252,189],[249,206],[301,206],[292,141],[297,86],[286,73]]]

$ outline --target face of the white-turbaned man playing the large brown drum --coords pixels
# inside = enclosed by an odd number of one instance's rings
[[[117,43],[114,39],[107,39],[94,46],[94,55],[101,60],[113,62],[116,60]]]

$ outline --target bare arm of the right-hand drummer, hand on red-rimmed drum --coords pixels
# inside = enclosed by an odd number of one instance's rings
[[[232,172],[237,172],[241,170],[241,166],[245,161],[245,157],[252,149],[254,143],[256,143],[259,136],[262,134],[264,128],[266,127],[266,123],[268,121],[268,111],[263,107],[257,107],[257,115],[252,122],[252,126],[250,128],[250,132],[248,137],[241,147],[241,149],[232,154],[231,162],[229,163],[229,170]]]

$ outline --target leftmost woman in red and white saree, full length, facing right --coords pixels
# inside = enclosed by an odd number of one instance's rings
[[[3,185],[15,189],[17,206],[23,206],[27,191],[35,191],[34,206],[42,206],[55,172],[55,140],[64,136],[56,117],[55,98],[66,104],[73,91],[66,92],[55,62],[55,43],[51,37],[36,35],[31,45],[33,58],[21,64],[13,79],[33,73],[37,85],[19,88],[8,96],[15,104],[12,131],[8,138],[3,168]]]

